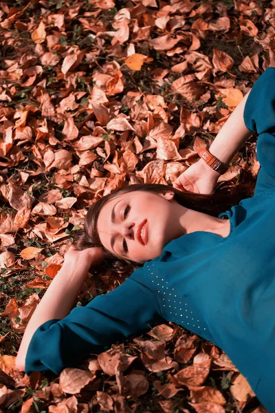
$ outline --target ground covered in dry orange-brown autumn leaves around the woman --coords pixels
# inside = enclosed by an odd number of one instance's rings
[[[228,357],[175,324],[79,369],[14,359],[85,213],[129,183],[173,184],[274,65],[273,1],[0,3],[0,410],[266,412]],[[220,186],[254,182],[256,137]],[[129,274],[98,271],[81,306]]]

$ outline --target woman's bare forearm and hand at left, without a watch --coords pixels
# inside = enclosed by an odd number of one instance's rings
[[[61,270],[47,288],[25,329],[15,362],[19,370],[25,370],[25,357],[34,332],[46,321],[63,319],[69,314],[91,264],[98,264],[100,255],[101,248],[89,248],[85,251],[69,248]]]

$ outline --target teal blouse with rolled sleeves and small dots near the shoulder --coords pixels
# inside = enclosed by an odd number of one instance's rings
[[[275,412],[275,69],[256,81],[245,105],[245,125],[259,134],[261,164],[253,198],[219,215],[230,234],[182,235],[126,281],[42,324],[25,361],[33,370],[77,367],[89,354],[156,324],[173,321],[222,348]]]

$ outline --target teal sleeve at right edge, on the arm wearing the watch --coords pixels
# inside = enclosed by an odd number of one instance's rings
[[[243,114],[245,126],[259,134],[256,154],[261,169],[255,195],[275,190],[275,67],[267,70],[254,83]]]

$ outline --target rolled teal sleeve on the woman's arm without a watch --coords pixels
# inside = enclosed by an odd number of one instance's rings
[[[153,291],[146,286],[144,268],[137,268],[115,290],[98,295],[87,306],[74,308],[64,319],[51,319],[32,336],[25,372],[77,367],[89,354],[100,354],[129,335],[161,324]]]

